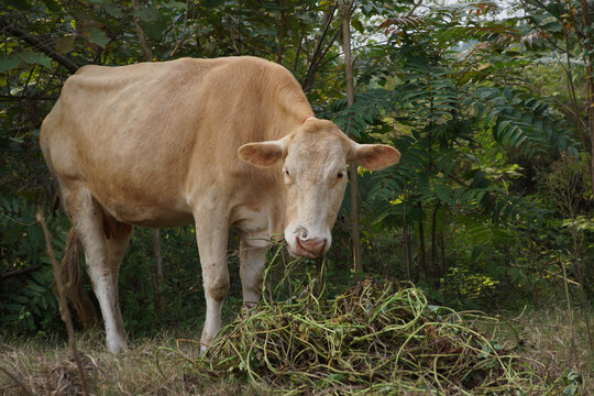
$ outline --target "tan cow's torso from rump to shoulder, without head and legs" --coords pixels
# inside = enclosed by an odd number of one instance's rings
[[[250,173],[240,145],[283,136],[310,112],[290,73],[257,58],[86,66],[41,144],[61,183],[85,183],[119,220],[168,226],[191,221],[190,190],[232,189]]]

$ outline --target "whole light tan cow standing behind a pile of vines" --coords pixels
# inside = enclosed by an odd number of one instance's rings
[[[63,273],[80,318],[79,250],[111,353],[125,350],[118,274],[132,227],[194,223],[207,304],[206,350],[229,289],[227,244],[240,235],[243,300],[260,298],[265,251],[283,234],[317,257],[346,187],[346,163],[381,169],[397,150],[358,144],[317,119],[293,74],[256,57],[84,66],[43,121],[40,143],[72,221]]]

